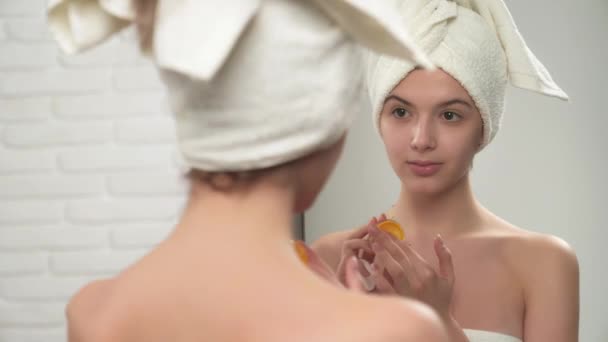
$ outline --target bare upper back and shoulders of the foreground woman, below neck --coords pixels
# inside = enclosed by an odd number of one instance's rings
[[[70,341],[445,341],[422,304],[335,288],[303,265],[274,276],[212,269],[173,248],[74,296]]]

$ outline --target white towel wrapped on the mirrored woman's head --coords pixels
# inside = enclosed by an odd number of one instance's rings
[[[431,58],[468,91],[481,113],[481,148],[495,137],[508,83],[567,99],[527,47],[503,0],[398,0],[401,25]],[[367,88],[379,132],[385,98],[416,64],[372,52]]]

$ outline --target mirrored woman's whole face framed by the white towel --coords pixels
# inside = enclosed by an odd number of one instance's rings
[[[446,72],[414,70],[385,99],[380,131],[393,170],[414,193],[440,193],[469,172],[483,124]]]

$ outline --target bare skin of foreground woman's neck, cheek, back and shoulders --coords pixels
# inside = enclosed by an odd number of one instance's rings
[[[342,145],[230,190],[194,179],[167,240],[72,298],[69,341],[447,341],[428,306],[348,291],[298,259],[293,214],[312,204]]]

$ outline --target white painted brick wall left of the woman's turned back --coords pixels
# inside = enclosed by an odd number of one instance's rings
[[[167,236],[187,190],[133,32],[65,56],[45,7],[0,0],[0,342],[65,341],[70,296]]]

